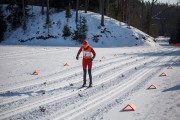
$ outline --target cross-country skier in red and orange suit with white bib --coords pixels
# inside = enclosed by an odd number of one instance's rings
[[[82,67],[83,67],[83,85],[82,87],[86,86],[86,73],[88,67],[88,74],[89,74],[89,87],[92,87],[92,61],[96,56],[96,52],[93,50],[91,46],[89,46],[88,41],[84,41],[81,48],[79,49],[76,59],[79,59],[79,54],[83,51],[83,59],[82,59]],[[93,56],[92,56],[93,54]]]

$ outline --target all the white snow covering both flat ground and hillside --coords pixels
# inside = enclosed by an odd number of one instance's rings
[[[113,37],[102,34],[100,42],[94,43],[92,35],[101,34],[103,29],[97,29],[100,16],[80,12],[87,17],[88,41],[97,56],[93,61],[93,87],[79,89],[83,82],[82,54],[80,60],[75,59],[79,43],[61,36],[18,42],[46,35],[40,28],[45,16],[40,15],[38,7],[33,10],[36,14],[29,25],[34,27],[29,26],[26,33],[21,28],[6,33],[0,44],[0,119],[179,120],[180,48],[169,46],[169,38],[159,37],[154,42],[140,30],[105,17],[105,27]],[[53,14],[51,19],[57,22],[64,14]],[[69,19],[72,29],[73,20],[74,13]],[[62,25],[65,22],[61,19]],[[51,34],[62,34],[62,25],[60,30],[54,25]],[[146,40],[141,39],[144,36],[148,36]],[[69,66],[64,66],[66,63]],[[32,75],[35,70],[40,74]],[[160,77],[163,72],[167,76]],[[147,89],[152,84],[157,89]],[[137,109],[123,111],[130,103]]]

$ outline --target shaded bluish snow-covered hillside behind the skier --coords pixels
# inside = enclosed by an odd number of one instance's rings
[[[17,44],[17,45],[48,45],[48,46],[64,46],[77,45],[78,43],[72,41],[72,37],[64,39],[62,31],[66,24],[69,25],[71,32],[76,29],[75,25],[75,11],[71,11],[72,17],[65,18],[65,11],[53,13],[50,15],[51,27],[49,34],[55,38],[43,40],[41,36],[48,36],[48,29],[46,27],[46,15],[41,15],[40,7],[33,7],[30,10],[33,15],[29,18],[27,30],[18,28],[15,31],[6,33],[5,41],[1,44]],[[6,13],[7,14],[7,13]],[[116,47],[116,46],[141,46],[150,45],[156,46],[153,38],[141,32],[134,27],[128,27],[125,23],[119,22],[109,17],[105,17],[105,26],[100,26],[101,15],[88,12],[79,11],[79,16],[85,16],[87,20],[88,32],[87,40],[95,47]],[[93,41],[94,36],[99,36],[98,43]],[[26,41],[26,42],[19,42]],[[42,42],[43,41],[43,42]]]

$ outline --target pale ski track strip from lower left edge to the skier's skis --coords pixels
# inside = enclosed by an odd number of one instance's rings
[[[119,72],[117,74],[119,74]],[[81,90],[83,90],[83,89],[81,89]],[[41,105],[44,105],[44,104],[47,104],[47,103],[50,103],[50,102],[62,99],[62,98],[66,98],[68,96],[75,95],[75,94],[79,93],[79,91],[81,91],[81,90],[76,90],[76,91],[68,93],[68,94],[67,93],[60,94],[59,96],[57,96],[57,95],[56,96],[52,96],[52,97],[49,97],[46,100],[42,99],[42,100],[39,100],[38,102],[36,101],[35,103],[26,104],[25,106],[21,106],[21,107],[15,108],[13,110],[11,109],[11,110],[2,112],[2,113],[0,113],[0,116],[2,116],[3,118],[6,118],[9,115],[12,116],[12,115],[15,115],[15,114],[18,114],[18,113],[30,110],[32,108],[35,108],[35,107],[38,107],[38,106],[41,106]],[[0,118],[2,118],[2,117],[0,117]]]

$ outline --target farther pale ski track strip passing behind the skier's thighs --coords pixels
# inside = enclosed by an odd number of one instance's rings
[[[101,62],[99,64],[94,64],[94,68],[95,67],[100,67],[100,66],[103,66],[103,65],[113,64],[113,63],[116,63],[116,62],[118,62],[120,60],[125,61],[126,59],[128,59],[130,57],[129,56],[127,56],[127,57],[118,57],[117,59],[115,59],[113,61],[107,61],[107,62]],[[69,76],[72,76],[75,73],[82,73],[82,68],[80,66],[76,66],[75,69],[77,69],[77,70],[74,70],[73,68],[71,68],[71,70],[73,70],[73,72],[70,72],[70,70],[69,70],[68,72],[63,74],[62,77],[61,77],[61,75],[59,75],[59,77],[50,76],[50,78],[47,78],[47,76],[45,76],[45,78],[44,78],[44,76],[43,76],[43,77],[41,77],[42,79],[41,78],[36,78],[36,79],[31,80],[29,83],[28,83],[28,81],[26,81],[26,82],[23,82],[23,83],[20,83],[20,84],[13,84],[13,85],[5,86],[4,89],[3,88],[0,89],[0,93],[16,90],[16,89],[20,89],[20,88],[40,85],[40,84],[43,84],[44,82],[47,82],[47,81],[50,81],[50,82],[58,81],[59,79],[65,79],[65,78],[67,78]],[[62,72],[63,71],[59,72],[59,74],[62,74]]]

